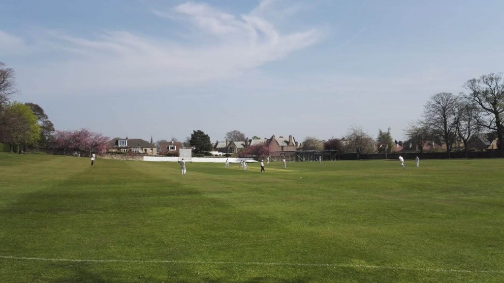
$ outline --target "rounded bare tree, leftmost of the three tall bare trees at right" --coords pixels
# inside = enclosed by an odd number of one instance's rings
[[[453,144],[457,138],[457,105],[458,97],[453,93],[442,92],[430,97],[425,104],[423,116],[435,135],[446,144],[446,153],[450,158]]]

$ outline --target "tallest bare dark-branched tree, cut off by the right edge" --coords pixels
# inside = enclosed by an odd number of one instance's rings
[[[470,91],[469,98],[474,100],[484,112],[484,119],[479,124],[497,132],[497,147],[504,154],[504,79],[502,74],[483,75],[479,79],[471,79],[464,84]]]

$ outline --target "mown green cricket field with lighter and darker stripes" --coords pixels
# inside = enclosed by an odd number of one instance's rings
[[[504,160],[0,154],[0,282],[502,282]]]

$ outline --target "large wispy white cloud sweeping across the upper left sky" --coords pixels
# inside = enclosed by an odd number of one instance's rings
[[[65,82],[58,85],[66,93],[194,85],[239,76],[323,39],[318,29],[280,31],[265,16],[273,7],[263,1],[248,14],[232,15],[205,3],[187,2],[153,11],[167,21],[184,24],[189,40],[183,43],[132,31],[95,38],[48,32],[44,41],[62,52],[65,60],[44,62],[51,72],[38,70],[30,84],[42,93],[54,93],[56,81]],[[201,44],[203,38],[205,44]]]

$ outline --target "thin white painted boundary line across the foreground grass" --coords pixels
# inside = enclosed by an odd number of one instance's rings
[[[284,262],[239,262],[239,261],[177,261],[177,260],[127,260],[127,259],[67,259],[67,258],[41,258],[41,257],[16,257],[0,255],[0,259],[15,260],[39,260],[39,261],[67,261],[67,262],[125,262],[125,263],[176,263],[176,264],[234,264],[234,265],[284,265],[284,266],[314,266],[314,267],[346,267],[346,268],[369,268],[369,269],[393,269],[424,272],[444,273],[500,273],[504,270],[462,270],[462,269],[439,269],[439,268],[410,268],[400,266],[377,266],[361,264],[331,264],[331,263],[284,263]]]

